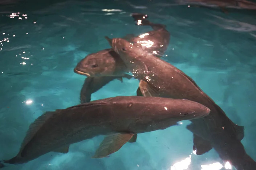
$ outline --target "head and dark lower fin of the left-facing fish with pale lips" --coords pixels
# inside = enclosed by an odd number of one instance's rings
[[[91,95],[110,81],[117,79],[122,82],[123,78],[133,78],[126,74],[125,64],[112,48],[86,56],[77,64],[74,72],[88,76],[80,91],[80,103],[90,102]]]

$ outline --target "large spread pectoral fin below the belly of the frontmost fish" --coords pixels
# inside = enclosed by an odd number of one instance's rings
[[[132,133],[115,133],[107,135],[99,145],[92,158],[103,158],[111,153],[117,152],[134,134]]]

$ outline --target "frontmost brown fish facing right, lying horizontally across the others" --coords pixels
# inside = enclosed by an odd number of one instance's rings
[[[103,158],[117,152],[134,133],[166,129],[209,112],[208,107],[186,99],[141,96],[117,96],[57,109],[34,120],[19,153],[3,163],[26,163],[49,152],[68,153],[69,145],[99,135],[105,138],[92,158]]]

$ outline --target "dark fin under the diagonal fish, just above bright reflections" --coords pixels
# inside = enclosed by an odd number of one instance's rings
[[[201,137],[193,134],[193,150],[196,151],[197,155],[202,155],[206,152],[209,152],[212,149],[211,143],[208,140],[204,140]]]

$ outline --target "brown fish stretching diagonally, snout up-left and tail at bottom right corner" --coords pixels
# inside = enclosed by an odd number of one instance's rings
[[[204,154],[214,148],[220,158],[229,161],[237,170],[255,169],[256,162],[245,152],[241,143],[244,127],[233,123],[191,77],[125,39],[106,39],[129,71],[140,80],[143,96],[184,98],[201,103],[211,110],[209,115],[201,119],[190,120],[191,124],[187,126],[193,133],[196,154]]]

